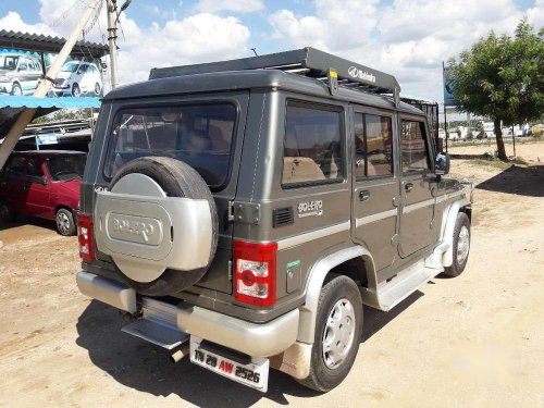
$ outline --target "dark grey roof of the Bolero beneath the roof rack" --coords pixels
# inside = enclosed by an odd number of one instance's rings
[[[119,100],[141,97],[162,97],[210,91],[233,91],[255,88],[275,88],[299,94],[331,98],[329,87],[322,81],[289,74],[280,70],[247,70],[193,74],[150,79],[125,85],[111,90],[102,100]],[[392,97],[369,94],[341,86],[337,100],[358,102],[384,109],[395,109]],[[399,110],[421,114],[419,109],[401,102]]]

